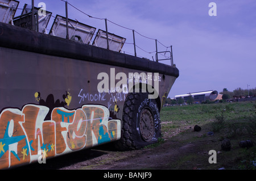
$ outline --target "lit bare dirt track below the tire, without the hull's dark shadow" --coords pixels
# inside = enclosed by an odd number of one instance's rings
[[[193,151],[195,145],[188,144],[177,148],[177,142],[166,141],[164,144],[150,149],[116,152],[109,150],[92,150],[102,155],[62,167],[60,169],[93,169],[93,170],[144,170],[170,169],[170,164],[179,158],[180,154]],[[91,153],[93,154],[93,152]],[[98,153],[100,154],[100,153]]]

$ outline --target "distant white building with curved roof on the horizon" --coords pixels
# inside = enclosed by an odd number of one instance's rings
[[[222,95],[218,94],[218,91],[216,91],[216,90],[176,95],[174,97],[174,99],[179,100],[179,99],[183,98],[184,101],[187,102],[187,100],[191,97],[194,99],[194,102],[203,102],[206,100],[221,100],[222,99]]]

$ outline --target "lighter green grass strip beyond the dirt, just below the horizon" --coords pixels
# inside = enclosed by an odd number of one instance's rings
[[[181,125],[210,123],[216,118],[225,121],[252,121],[256,119],[256,113],[253,102],[236,102],[164,107],[160,117],[163,123],[171,123],[177,128]]]

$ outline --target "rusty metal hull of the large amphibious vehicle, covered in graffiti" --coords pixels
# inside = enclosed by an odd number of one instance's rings
[[[127,92],[97,89],[112,70],[159,73],[159,110],[179,77],[173,66],[0,23],[0,169],[118,140]]]

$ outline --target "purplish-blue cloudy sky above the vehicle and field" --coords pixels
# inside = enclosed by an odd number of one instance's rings
[[[20,0],[31,5],[31,0]],[[46,4],[53,16],[65,16],[61,0],[35,0]],[[209,3],[216,3],[216,16],[210,16]],[[256,87],[256,1],[255,0],[68,0],[68,3],[96,18],[107,18],[135,30],[139,57],[155,59],[158,51],[172,45],[174,64],[180,70],[169,94],[187,94],[206,90]],[[21,10],[16,12],[20,15]],[[211,11],[212,12],[212,11]],[[89,18],[68,7],[69,18],[105,30],[105,21]],[[47,27],[51,28],[54,18]],[[108,22],[111,33],[126,38],[123,51],[133,54],[133,33]],[[152,40],[153,39],[153,40]],[[165,46],[163,46],[163,45]],[[164,64],[168,62],[164,61]]]

